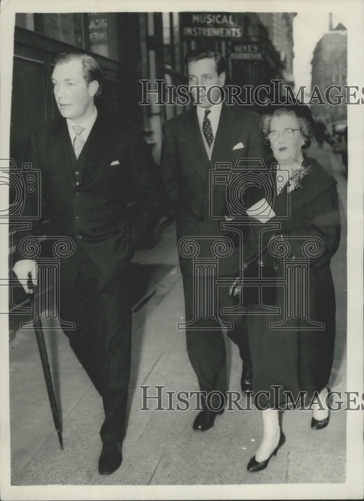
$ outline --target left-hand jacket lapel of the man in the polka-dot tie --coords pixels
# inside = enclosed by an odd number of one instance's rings
[[[205,182],[209,157],[201,137],[196,107],[187,113],[184,126],[181,128],[180,138],[186,152],[190,156],[191,165],[200,179]]]

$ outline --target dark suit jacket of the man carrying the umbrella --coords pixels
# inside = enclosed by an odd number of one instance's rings
[[[63,287],[75,284],[81,249],[106,274],[120,274],[160,215],[155,164],[130,124],[110,124],[99,114],[76,165],[72,154],[64,118],[33,129],[29,158],[41,171],[42,216],[49,219],[49,234],[68,236],[76,245],[61,263]],[[133,211],[127,208],[130,193],[137,202]],[[38,195],[27,198],[27,212]],[[36,232],[34,226],[17,232],[18,241]],[[19,248],[17,253],[24,259]]]

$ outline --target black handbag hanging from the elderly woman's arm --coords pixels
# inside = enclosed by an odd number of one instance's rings
[[[244,263],[241,273],[230,287],[229,296],[239,305],[248,306],[262,303],[269,306],[275,305],[277,302],[278,262],[275,260],[273,265],[265,265],[262,260],[257,262],[267,246],[268,245],[266,245],[260,253],[257,253],[253,258]],[[254,279],[255,283],[244,284],[244,280],[246,279]],[[267,280],[264,285],[259,285],[259,282],[265,281],[266,279],[269,280]],[[259,290],[261,291],[260,294]],[[241,295],[243,296],[242,298]]]

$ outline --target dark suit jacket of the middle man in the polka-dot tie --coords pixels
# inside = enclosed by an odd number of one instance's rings
[[[168,197],[177,208],[177,241],[187,236],[196,238],[200,245],[198,258],[208,259],[213,257],[213,239],[198,237],[232,237],[233,252],[219,259],[219,276],[232,276],[239,268],[241,242],[239,233],[221,229],[221,223],[226,222],[224,216],[231,215],[228,183],[214,184],[210,189],[210,172],[216,169],[217,162],[230,162],[234,169],[240,158],[265,158],[258,120],[255,113],[223,105],[211,161],[195,107],[166,121],[163,126],[160,168]],[[239,143],[243,148],[234,149]],[[246,230],[249,233],[248,226]],[[191,259],[179,255],[179,264],[184,275],[193,276]]]

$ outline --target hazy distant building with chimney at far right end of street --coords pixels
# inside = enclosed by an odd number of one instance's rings
[[[347,30],[341,23],[332,29],[331,19],[330,15],[329,31],[317,42],[311,61],[311,92],[317,86],[322,96],[330,85],[342,87],[347,84]],[[332,90],[330,93],[333,101],[335,94],[339,92]],[[316,120],[328,124],[346,119],[346,106],[343,103],[337,106],[313,104],[312,113]]]

